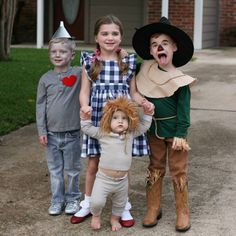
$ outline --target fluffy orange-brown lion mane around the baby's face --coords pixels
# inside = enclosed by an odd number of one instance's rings
[[[111,118],[116,111],[122,111],[127,115],[129,122],[127,132],[132,132],[138,127],[139,116],[137,105],[126,97],[118,97],[114,100],[108,100],[103,108],[103,117],[100,123],[103,133],[111,132]]]

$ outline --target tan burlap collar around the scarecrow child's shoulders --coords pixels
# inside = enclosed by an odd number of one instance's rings
[[[183,86],[192,85],[195,78],[176,69],[172,72],[162,71],[155,60],[144,61],[136,76],[138,91],[146,97],[169,97]]]

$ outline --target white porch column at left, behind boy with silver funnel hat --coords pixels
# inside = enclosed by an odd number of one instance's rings
[[[37,48],[43,47],[44,39],[44,0],[37,0]]]

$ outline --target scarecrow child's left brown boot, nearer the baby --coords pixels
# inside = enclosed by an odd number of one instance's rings
[[[156,172],[149,172],[146,185],[147,213],[143,219],[144,227],[153,227],[162,217],[161,190],[162,180]]]

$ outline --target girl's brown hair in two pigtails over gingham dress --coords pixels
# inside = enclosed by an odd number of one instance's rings
[[[106,16],[99,18],[96,21],[96,23],[94,25],[94,36],[97,36],[101,26],[106,25],[106,24],[117,25],[119,27],[119,31],[120,31],[121,36],[123,36],[123,25],[122,25],[121,21],[114,15],[106,15]],[[98,49],[98,51],[100,51],[100,46],[98,43],[96,44],[96,48]],[[118,56],[118,65],[119,65],[120,70],[122,71],[123,74],[127,74],[128,65],[122,61],[120,51],[117,51],[117,56]],[[97,80],[97,77],[98,77],[99,73],[101,72],[101,70],[102,70],[102,63],[101,63],[101,61],[99,61],[95,57],[95,60],[91,64],[91,68],[89,71],[89,77],[93,81]]]

